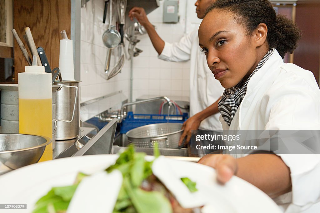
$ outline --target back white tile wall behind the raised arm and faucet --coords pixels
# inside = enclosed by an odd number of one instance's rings
[[[148,14],[148,19],[156,26],[157,33],[164,41],[178,42],[185,33],[192,31],[201,22],[195,13],[196,1],[187,0],[179,1],[179,23],[162,23],[163,2],[160,1],[160,7]],[[141,35],[139,39],[137,47],[144,52],[133,58],[133,100],[142,95],[165,95],[169,98],[176,96],[181,97],[181,100],[182,96],[189,97],[190,63],[162,61],[158,59],[148,35]]]

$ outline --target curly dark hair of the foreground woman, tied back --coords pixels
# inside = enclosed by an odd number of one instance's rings
[[[276,15],[268,0],[217,0],[207,8],[205,15],[213,9],[232,12],[235,20],[247,28],[248,34],[252,34],[260,23],[266,24],[269,49],[276,48],[282,58],[298,47],[300,29],[285,16]]]

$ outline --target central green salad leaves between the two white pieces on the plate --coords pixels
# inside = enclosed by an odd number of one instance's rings
[[[142,181],[152,175],[153,161],[145,160],[145,156],[145,153],[134,152],[134,148],[129,147],[120,154],[114,165],[106,169],[108,172],[117,169],[124,177],[114,212],[172,212],[171,204],[163,194],[140,189]]]

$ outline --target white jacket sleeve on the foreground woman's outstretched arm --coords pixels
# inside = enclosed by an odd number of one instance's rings
[[[302,72],[302,71],[301,71]],[[313,76],[310,80],[315,81]],[[315,83],[299,76],[292,76],[274,85],[264,96],[267,106],[266,129],[320,130],[319,88]],[[269,109],[268,109],[269,108]],[[320,141],[319,141],[320,143]],[[315,144],[319,147],[318,144]],[[319,150],[316,150],[319,151]],[[319,202],[320,155],[277,153],[290,168],[292,204],[300,210]]]

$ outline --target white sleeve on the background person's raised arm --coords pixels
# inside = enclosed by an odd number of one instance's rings
[[[190,60],[192,41],[194,40],[195,36],[198,36],[197,30],[192,31],[186,36],[183,36],[179,42],[164,42],[164,49],[162,50],[158,58],[164,61],[173,62]]]

